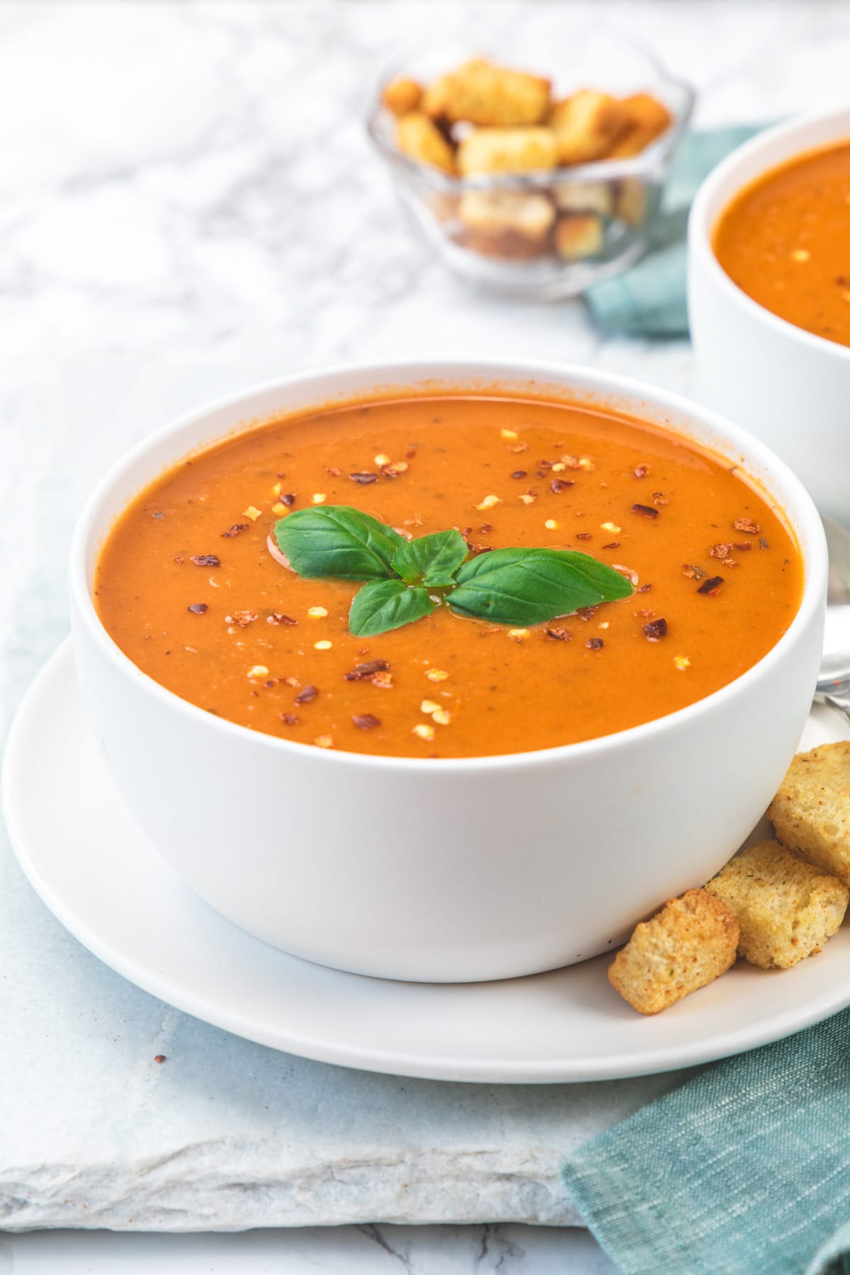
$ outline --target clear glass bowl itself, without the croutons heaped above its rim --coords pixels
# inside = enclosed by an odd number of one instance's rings
[[[539,41],[537,52],[525,52],[522,41],[512,40],[507,48],[441,48],[396,61],[381,76],[367,129],[409,221],[450,270],[497,292],[545,301],[575,296],[624,270],[645,251],[670,159],[691,116],[693,91],[640,45],[601,28],[565,36],[562,50],[553,48],[553,41],[543,43],[543,52]],[[381,103],[381,91],[396,76],[431,84],[470,56],[548,76],[554,99],[579,88],[614,96],[651,93],[666,106],[672,122],[630,158],[524,173],[452,176],[399,149],[396,117]],[[475,204],[507,208],[508,219],[515,219],[516,210],[528,212],[531,233],[475,226],[468,214]],[[543,235],[540,213],[543,222],[551,223]],[[571,221],[572,229],[581,229],[576,214],[584,214],[581,226],[590,233],[558,240],[556,228],[563,219]]]

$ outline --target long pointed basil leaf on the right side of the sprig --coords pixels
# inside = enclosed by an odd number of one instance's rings
[[[539,625],[632,593],[619,571],[570,550],[493,550],[465,562],[456,580],[451,609],[501,625]]]

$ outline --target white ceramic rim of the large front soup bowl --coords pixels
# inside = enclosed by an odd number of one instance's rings
[[[475,368],[475,371],[473,372],[472,368]],[[780,640],[739,677],[728,682],[725,686],[721,686],[720,690],[712,691],[711,695],[706,695],[703,699],[696,700],[693,704],[689,704],[683,709],[677,709],[674,713],[668,713],[664,717],[654,718],[651,722],[645,722],[641,725],[630,727],[626,731],[618,731],[613,734],[598,736],[596,738],[584,740],[579,743],[558,745],[553,748],[537,748],[529,752],[507,752],[482,757],[423,759],[384,756],[381,754],[372,755],[347,752],[342,748],[313,748],[312,751],[316,754],[316,759],[320,765],[325,765],[329,769],[333,769],[334,766],[354,765],[366,766],[370,770],[373,770],[375,768],[390,771],[414,770],[419,774],[424,773],[426,766],[428,768],[428,773],[435,771],[443,774],[488,770],[500,771],[520,766],[539,766],[554,760],[567,761],[570,757],[576,756],[593,756],[594,754],[607,752],[612,748],[628,746],[635,742],[646,741],[649,743],[656,733],[670,729],[672,724],[689,722],[706,711],[711,711],[715,705],[721,705],[725,700],[739,694],[739,690],[744,687],[747,682],[752,682],[757,677],[768,673],[774,664],[784,657],[785,650],[796,641],[798,634],[800,634],[800,631],[812,622],[814,613],[821,607],[826,593],[827,552],[823,527],[812,497],[794,472],[768,448],[766,448],[765,444],[752,437],[739,426],[731,425],[716,412],[702,408],[678,394],[670,394],[666,390],[656,390],[654,386],[646,385],[642,381],[632,380],[627,376],[617,376],[608,372],[581,368],[571,363],[554,363],[537,360],[522,360],[517,363],[507,363],[503,360],[496,358],[429,358],[393,360],[382,363],[372,363],[370,361],[342,363],[331,367],[312,368],[307,372],[293,372],[279,380],[264,381],[263,384],[255,385],[249,390],[240,390],[236,394],[226,395],[213,403],[208,403],[204,407],[195,408],[194,411],[185,413],[177,419],[163,426],[161,430],[154,431],[154,433],[149,435],[141,442],[136,444],[136,446],[129,453],[126,453],[126,455],[112,465],[112,468],[96,484],[92,495],[85,502],[74,529],[70,547],[69,586],[71,599],[76,607],[76,613],[85,626],[90,640],[99,648],[101,654],[116,667],[117,672],[130,674],[135,678],[144,678],[144,685],[148,692],[153,695],[154,699],[159,700],[164,708],[171,708],[172,711],[178,711],[184,715],[189,714],[196,722],[203,720],[209,731],[214,731],[217,733],[226,732],[234,738],[247,737],[254,742],[259,741],[263,746],[274,748],[284,756],[292,754],[293,750],[296,750],[297,755],[301,755],[305,747],[310,747],[308,745],[297,743],[278,736],[266,734],[259,731],[250,731],[247,727],[240,725],[236,722],[228,722],[226,718],[214,717],[204,709],[198,708],[195,704],[191,704],[189,700],[181,699],[181,696],[167,690],[153,677],[140,669],[139,666],[135,664],[129,655],[125,655],[117,643],[115,643],[115,640],[107,634],[97,615],[92,593],[88,586],[87,548],[92,527],[96,521],[99,521],[102,506],[104,505],[110,488],[138,463],[143,462],[149,450],[155,449],[169,435],[189,428],[206,416],[222,411],[237,409],[240,404],[246,403],[246,400],[250,400],[259,394],[279,391],[282,403],[284,403],[287,393],[302,386],[305,382],[317,381],[324,376],[356,376],[363,374],[368,374],[370,376],[373,375],[376,389],[387,385],[415,389],[417,385],[422,385],[423,382],[438,380],[445,382],[446,391],[450,391],[452,375],[457,385],[463,385],[464,380],[469,381],[473,375],[482,379],[492,379],[493,385],[498,385],[500,382],[505,384],[506,381],[510,382],[511,380],[529,381],[543,379],[548,384],[557,384],[559,388],[563,388],[565,391],[568,389],[568,385],[563,382],[575,380],[577,391],[590,391],[591,394],[598,393],[605,397],[617,394],[624,399],[637,402],[649,400],[654,405],[672,412],[675,416],[692,417],[693,419],[707,425],[709,428],[712,430],[719,437],[728,439],[733,442],[735,449],[740,449],[746,462],[754,462],[757,467],[763,467],[771,477],[777,479],[779,484],[790,491],[794,507],[788,510],[786,516],[791,523],[794,534],[799,532],[800,539],[805,541],[812,547],[818,543],[822,544],[822,552],[819,556],[817,552],[814,555],[810,555],[810,552],[808,555],[803,555],[803,597],[794,620]],[[460,393],[463,393],[463,390]],[[354,394],[353,397],[357,395]],[[344,399],[340,399],[340,403],[342,402],[344,402]],[[568,399],[565,399],[565,402],[568,402]],[[316,407],[322,407],[321,400],[316,403]],[[251,427],[256,427],[255,421],[252,421],[249,426],[249,428]],[[224,436],[227,435],[219,435],[219,437]],[[682,436],[686,439],[688,437],[687,433],[683,433]],[[214,440],[210,439],[209,445],[212,445],[213,441]],[[185,455],[186,453],[184,451],[172,456],[172,463],[177,464]],[[747,470],[747,464],[742,468]],[[751,481],[758,486],[756,478],[752,478]],[[129,486],[131,488],[131,484]],[[119,513],[120,509],[107,509],[110,518],[115,518]],[[798,547],[800,548],[800,552],[803,552],[802,544]]]

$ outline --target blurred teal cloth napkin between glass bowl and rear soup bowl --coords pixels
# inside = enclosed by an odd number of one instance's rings
[[[585,292],[601,328],[635,337],[687,337],[684,236],[702,178],[763,127],[738,125],[686,134],[673,161],[646,256]]]

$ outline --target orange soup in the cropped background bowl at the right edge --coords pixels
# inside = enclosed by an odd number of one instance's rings
[[[850,142],[763,175],[723,213],[715,255],[743,292],[850,346]]]

